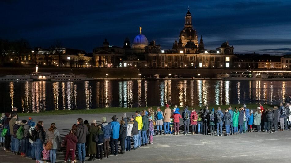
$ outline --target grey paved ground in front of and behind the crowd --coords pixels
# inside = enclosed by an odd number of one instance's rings
[[[133,113],[127,113],[131,115]],[[106,116],[111,121],[112,113],[108,114],[81,114],[81,115],[57,115],[35,116],[34,121],[44,121],[44,127],[49,128],[55,122],[62,138],[69,132],[77,118],[84,120],[96,119],[101,123],[101,117]],[[116,113],[121,119],[121,113]],[[28,117],[20,117],[28,119]],[[182,124],[182,123],[180,123]],[[180,125],[180,133],[183,126]],[[224,132],[225,134],[225,132]],[[242,135],[230,136],[206,136],[206,135],[159,135],[154,136],[153,144],[131,150],[124,155],[119,154],[98,161],[88,162],[255,162],[273,163],[290,162],[291,158],[291,131],[278,131],[274,133],[247,132]],[[62,148],[57,153],[57,162],[63,162]],[[34,162],[31,159],[14,156],[10,152],[4,152],[0,147],[0,162]]]

